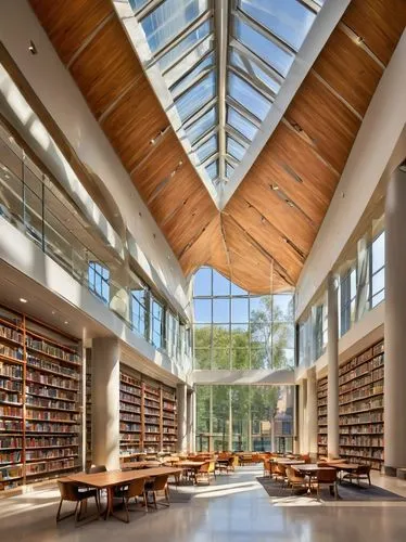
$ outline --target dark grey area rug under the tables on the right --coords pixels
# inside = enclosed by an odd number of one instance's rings
[[[305,495],[304,491],[299,489],[293,490],[282,486],[281,481],[271,480],[268,477],[257,477],[258,482],[264,487],[269,496],[289,498],[294,495]],[[378,486],[356,486],[355,483],[343,482],[339,483],[339,495],[342,501],[406,501],[404,496],[392,493]],[[312,493],[312,498],[316,498],[316,493]],[[330,494],[329,488],[320,488],[321,501],[335,501],[335,496]]]

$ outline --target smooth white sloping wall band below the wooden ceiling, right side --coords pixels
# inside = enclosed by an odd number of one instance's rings
[[[333,268],[373,194],[406,121],[406,30],[378,85],[296,287],[296,319]]]

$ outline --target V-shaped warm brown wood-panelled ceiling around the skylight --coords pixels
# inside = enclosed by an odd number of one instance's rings
[[[189,275],[253,293],[296,283],[406,24],[405,0],[353,0],[284,117],[219,212],[110,0],[30,0],[62,62]]]

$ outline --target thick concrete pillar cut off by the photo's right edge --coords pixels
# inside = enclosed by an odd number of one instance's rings
[[[406,172],[397,169],[385,202],[384,470],[406,466]]]

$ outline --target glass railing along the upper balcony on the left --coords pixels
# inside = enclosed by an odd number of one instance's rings
[[[50,183],[48,185],[48,178],[29,159],[23,154],[18,155],[18,149],[10,149],[0,138],[0,217],[24,233],[71,276],[92,292],[89,288],[89,263],[96,261],[107,269],[109,264],[84,243],[84,238],[91,236],[80,216],[69,208],[61,193]],[[94,240],[92,241],[94,244]],[[139,280],[129,269],[127,275],[120,270],[120,278],[125,284],[110,278],[107,302],[97,292],[92,293],[140,336],[132,325],[130,312],[131,291],[139,288]],[[144,318],[148,322],[147,312]],[[152,343],[148,335],[145,333],[141,336]],[[161,348],[166,349],[165,333]],[[178,354],[176,360],[178,366],[185,369],[185,356]]]

